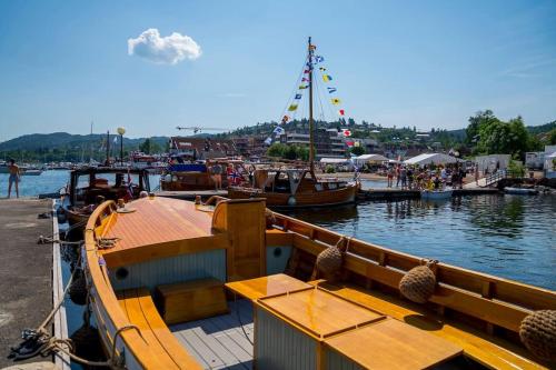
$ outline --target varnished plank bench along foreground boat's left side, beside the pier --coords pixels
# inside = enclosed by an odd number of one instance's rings
[[[158,354],[161,369],[202,369],[162,321],[148,289],[117,291],[116,296],[129,322],[139,328],[149,348]]]

